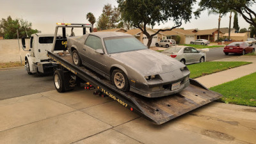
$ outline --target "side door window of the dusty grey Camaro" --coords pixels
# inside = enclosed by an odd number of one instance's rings
[[[84,44],[95,50],[103,49],[101,39],[97,36],[89,35]]]

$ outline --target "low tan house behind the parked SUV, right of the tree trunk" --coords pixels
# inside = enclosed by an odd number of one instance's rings
[[[156,29],[157,31],[159,29]],[[166,35],[166,39],[175,39],[175,36],[180,36],[180,44],[190,44],[191,41],[195,40],[195,33],[191,31],[186,31],[184,29],[172,29],[172,31],[161,31]]]

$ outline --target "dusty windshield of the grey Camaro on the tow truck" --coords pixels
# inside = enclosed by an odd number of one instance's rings
[[[104,43],[109,54],[147,49],[147,47],[138,39],[134,38],[134,36],[104,38]]]

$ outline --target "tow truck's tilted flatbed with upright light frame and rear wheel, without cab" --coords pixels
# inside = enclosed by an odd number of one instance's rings
[[[56,35],[58,28],[63,30],[62,46],[56,47]],[[189,79],[190,85],[182,92],[166,97],[147,98],[132,92],[122,92],[113,86],[110,81],[100,76],[87,67],[77,67],[72,62],[72,56],[67,51],[66,28],[90,28],[90,24],[60,24],[56,26],[52,51],[47,51],[47,56],[58,63],[54,71],[54,85],[58,92],[72,90],[79,83],[86,83],[85,89],[95,90],[95,95],[111,97],[125,108],[138,113],[154,124],[160,125],[177,116],[188,113],[220,99],[220,93],[212,92],[194,79]],[[60,40],[60,39],[58,39]],[[63,49],[62,53],[54,53],[54,50]]]

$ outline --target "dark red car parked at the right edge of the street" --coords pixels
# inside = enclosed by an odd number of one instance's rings
[[[250,46],[247,42],[232,42],[224,47],[223,52],[228,55],[229,53],[246,54],[254,52],[255,48]]]

